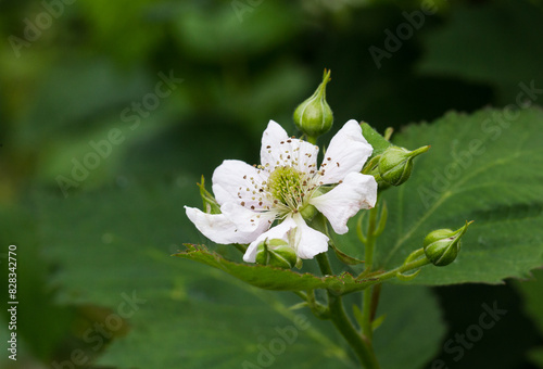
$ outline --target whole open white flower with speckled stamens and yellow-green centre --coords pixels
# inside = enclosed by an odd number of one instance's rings
[[[222,214],[186,206],[187,216],[216,243],[249,243],[245,262],[254,263],[256,247],[266,239],[282,239],[301,258],[313,258],[328,250],[329,239],[307,226],[304,217],[318,211],[343,234],[349,218],[375,206],[377,182],[361,174],[371,152],[352,119],[332,138],[317,169],[318,147],[288,137],[270,120],[262,137],[260,166],[224,161],[215,169],[213,192]]]

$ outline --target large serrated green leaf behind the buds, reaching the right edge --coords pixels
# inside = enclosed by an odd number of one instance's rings
[[[383,192],[389,217],[377,241],[376,266],[401,265],[430,231],[456,229],[466,220],[475,222],[457,259],[446,267],[426,266],[409,283],[501,283],[542,266],[542,120],[535,107],[449,113],[396,135],[395,144],[431,144],[431,150],[415,161],[405,184]],[[354,231],[337,237],[336,244],[350,255],[364,253]]]

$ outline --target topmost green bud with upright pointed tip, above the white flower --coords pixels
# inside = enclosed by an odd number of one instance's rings
[[[298,129],[307,135],[308,140],[326,133],[332,127],[332,110],[326,102],[326,84],[330,80],[330,71],[325,69],[323,82],[315,93],[298,105],[294,111],[294,124]]]

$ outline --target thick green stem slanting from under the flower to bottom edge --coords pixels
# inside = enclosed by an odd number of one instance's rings
[[[332,273],[330,262],[326,253],[317,255],[317,263],[323,275],[326,276]],[[371,345],[363,339],[358,331],[356,331],[351,319],[349,319],[349,317],[346,316],[342,297],[339,295],[334,295],[330,291],[327,291],[327,293],[328,309],[330,311],[330,319],[332,320],[333,326],[336,326],[336,328],[346,340],[351,348],[353,348],[356,357],[364,368],[379,369],[379,362],[377,362],[377,358],[371,348]]]

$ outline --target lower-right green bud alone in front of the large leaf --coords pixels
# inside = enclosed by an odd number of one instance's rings
[[[453,263],[460,251],[460,239],[471,222],[466,221],[464,227],[455,231],[438,229],[428,233],[422,243],[426,257],[438,267]]]

